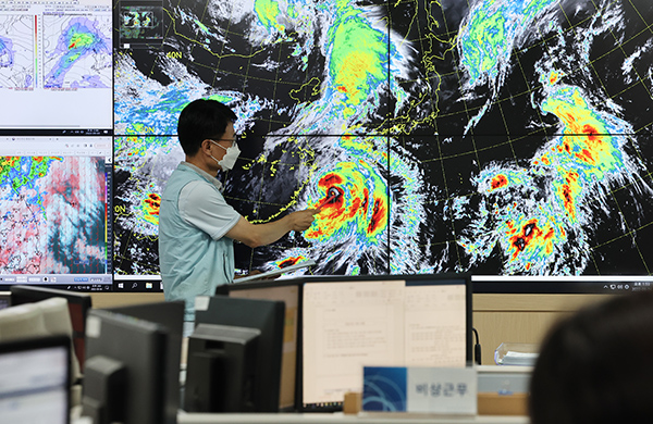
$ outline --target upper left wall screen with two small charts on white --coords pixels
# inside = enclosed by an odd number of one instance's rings
[[[110,0],[2,1],[2,134],[111,135],[112,58]]]

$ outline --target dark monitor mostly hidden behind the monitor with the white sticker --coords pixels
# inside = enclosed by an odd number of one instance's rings
[[[184,334],[184,302],[153,302],[143,304],[130,304],[106,309],[109,312],[134,316],[139,320],[160,324],[168,329],[168,347],[165,348],[168,364],[167,372],[170,374],[165,386],[165,421],[175,423],[180,408],[180,373],[182,362],[182,339]]]

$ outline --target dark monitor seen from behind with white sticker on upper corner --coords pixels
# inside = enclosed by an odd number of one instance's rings
[[[96,424],[171,423],[165,415],[172,377],[167,370],[168,337],[160,324],[91,310],[86,325],[82,414]],[[174,378],[178,379],[178,373]]]

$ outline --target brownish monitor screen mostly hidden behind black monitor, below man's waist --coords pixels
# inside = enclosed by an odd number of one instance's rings
[[[237,280],[236,280],[237,282]],[[281,383],[279,410],[294,411],[297,388],[297,337],[299,324],[299,292],[296,279],[275,279],[227,284],[222,287],[232,298],[279,300],[285,304],[283,352],[281,356]]]

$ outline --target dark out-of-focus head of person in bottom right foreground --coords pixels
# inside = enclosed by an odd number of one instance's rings
[[[653,422],[653,292],[582,309],[545,338],[531,379],[532,424]]]

